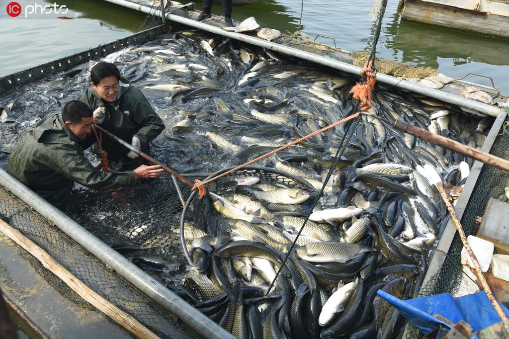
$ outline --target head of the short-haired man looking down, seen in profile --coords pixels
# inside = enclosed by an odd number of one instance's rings
[[[62,110],[64,125],[73,132],[78,139],[84,139],[92,132],[92,109],[78,100],[65,104]]]

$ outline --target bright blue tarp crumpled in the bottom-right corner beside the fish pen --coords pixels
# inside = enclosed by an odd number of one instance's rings
[[[451,328],[433,317],[434,314],[439,314],[455,324],[460,320],[466,321],[472,326],[473,332],[502,321],[484,291],[457,298],[450,294],[437,294],[410,300],[400,300],[382,290],[377,294],[395,306],[422,333],[428,333],[439,325]],[[509,315],[509,310],[503,305],[500,306],[505,314]],[[472,338],[476,336],[472,335]]]

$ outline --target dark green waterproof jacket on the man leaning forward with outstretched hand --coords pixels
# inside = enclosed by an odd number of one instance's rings
[[[83,149],[94,140],[78,139],[64,125],[60,113],[48,115],[21,135],[7,172],[46,199],[52,193],[63,197],[73,182],[94,189],[132,185],[133,171],[103,173],[92,166]]]

